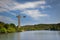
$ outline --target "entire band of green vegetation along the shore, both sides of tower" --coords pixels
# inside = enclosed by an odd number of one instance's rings
[[[13,23],[6,24],[0,22],[0,33],[11,33],[11,32],[21,32],[30,30],[60,30],[60,23],[58,24],[38,24],[38,25],[27,25],[17,28]]]

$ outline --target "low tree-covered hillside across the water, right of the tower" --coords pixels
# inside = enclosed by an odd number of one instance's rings
[[[20,30],[30,31],[30,30],[57,30],[60,31],[60,23],[58,24],[37,24],[28,25],[21,27]]]

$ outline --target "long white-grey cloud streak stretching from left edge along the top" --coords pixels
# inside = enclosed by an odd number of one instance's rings
[[[9,10],[22,10],[26,8],[37,8],[39,5],[41,6],[42,4],[46,4],[45,0],[41,1],[34,1],[34,2],[26,2],[24,4],[18,3],[14,0],[0,0],[0,12],[2,11],[9,11]],[[40,8],[45,8],[45,6],[40,7]]]

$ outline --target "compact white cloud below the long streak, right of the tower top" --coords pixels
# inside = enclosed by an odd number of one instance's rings
[[[26,10],[26,11],[24,11],[24,12],[22,12],[22,13],[24,13],[24,14],[26,14],[26,15],[34,18],[34,19],[37,19],[37,18],[39,18],[39,17],[48,16],[47,14],[42,14],[42,13],[41,13],[40,11],[38,11],[38,10]]]

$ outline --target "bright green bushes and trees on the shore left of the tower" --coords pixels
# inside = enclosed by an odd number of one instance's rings
[[[16,32],[16,26],[15,24],[7,24],[0,22],[0,33],[11,33],[11,32]]]

